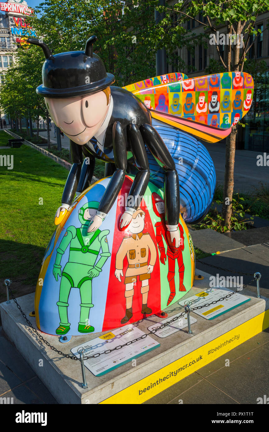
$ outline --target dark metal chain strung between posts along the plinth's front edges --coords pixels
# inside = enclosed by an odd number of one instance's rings
[[[255,278],[252,279],[249,283],[246,283],[245,285],[241,286],[240,289],[237,289],[236,291],[230,292],[230,294],[225,295],[225,297],[221,297],[220,299],[218,299],[218,300],[214,300],[214,301],[211,302],[211,303],[206,303],[206,304],[203,305],[203,306],[196,306],[195,308],[192,308],[191,311],[196,311],[196,310],[198,310],[198,309],[206,308],[206,307],[208,307],[208,306],[215,305],[217,302],[220,302],[220,301],[222,301],[222,300],[228,299],[228,297],[231,297],[231,296],[234,295],[236,292],[241,291],[241,290],[242,290],[243,288],[245,288],[247,285],[250,285],[254,280],[256,280],[256,279],[255,279]],[[12,282],[12,281],[10,281],[10,282]],[[44,342],[44,343],[45,343],[49,348],[51,348],[53,351],[55,351],[56,353],[60,354],[61,356],[64,356],[64,357],[66,357],[67,359],[79,360],[79,361],[80,361],[80,358],[78,359],[76,356],[70,356],[69,354],[64,354],[64,353],[63,353],[62,351],[60,351],[59,349],[55,348],[55,346],[53,346],[53,345],[51,345],[49,342],[47,342],[47,340],[45,340],[44,337],[42,337],[41,334],[38,333],[38,330],[36,330],[35,327],[33,327],[32,323],[28,320],[28,318],[26,317],[25,313],[22,311],[22,308],[20,307],[19,303],[18,303],[17,300],[15,299],[15,297],[14,297],[14,295],[13,295],[13,292],[12,292],[11,288],[9,287],[9,283],[7,283],[6,286],[7,286],[8,290],[9,290],[9,293],[10,293],[11,297],[13,298],[14,302],[16,303],[17,308],[18,308],[19,311],[21,312],[23,318],[24,318],[25,321],[27,322],[28,326],[31,327],[32,330],[35,332],[35,334],[39,337],[39,339],[41,339],[41,340],[42,340],[42,341],[43,341],[43,342]],[[149,333],[146,333],[146,334],[144,334],[143,336],[137,337],[137,338],[134,339],[134,340],[130,340],[129,342],[124,343],[123,345],[116,346],[115,348],[112,348],[112,349],[106,349],[103,353],[96,353],[96,354],[93,354],[92,356],[84,357],[84,360],[94,359],[95,357],[100,357],[100,356],[103,355],[103,354],[109,354],[109,353],[112,353],[112,351],[115,351],[115,350],[117,350],[117,349],[121,349],[121,348],[123,348],[124,346],[131,345],[132,343],[135,343],[135,342],[137,342],[138,340],[144,339],[145,337],[149,336],[149,334],[155,334],[156,331],[161,330],[162,328],[168,326],[169,324],[173,323],[174,321],[177,321],[179,318],[182,318],[182,317],[184,316],[185,313],[186,313],[185,311],[184,311],[184,312],[181,312],[181,314],[180,314],[179,316],[172,318],[170,321],[167,321],[165,324],[161,324],[161,325],[159,325],[159,326],[157,326],[157,327],[153,327],[152,330],[149,330]]]

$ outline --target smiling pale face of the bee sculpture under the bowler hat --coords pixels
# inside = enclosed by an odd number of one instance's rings
[[[106,94],[73,98],[44,98],[54,123],[77,144],[87,143],[103,123],[110,106]]]

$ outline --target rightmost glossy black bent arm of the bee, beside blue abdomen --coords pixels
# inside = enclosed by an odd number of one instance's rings
[[[150,124],[142,124],[140,131],[152,156],[165,171],[164,197],[166,224],[172,226],[178,225],[180,195],[174,160],[160,135]]]

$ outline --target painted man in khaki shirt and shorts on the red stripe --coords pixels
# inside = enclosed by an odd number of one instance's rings
[[[142,314],[151,314],[152,309],[148,308],[148,294],[149,294],[149,279],[152,273],[154,264],[157,258],[157,252],[152,238],[149,234],[143,234],[142,231],[145,226],[145,212],[140,207],[133,213],[128,226],[129,231],[132,233],[130,237],[123,238],[119,250],[116,255],[116,271],[115,276],[121,282],[120,276],[123,276],[123,260],[127,256],[128,268],[125,274],[125,297],[126,297],[126,315],[120,321],[121,324],[127,323],[133,316],[133,295],[134,283],[142,282]],[[150,261],[149,260],[150,251]]]

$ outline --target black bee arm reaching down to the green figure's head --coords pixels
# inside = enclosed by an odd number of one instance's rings
[[[119,121],[116,121],[113,125],[112,137],[116,171],[114,172],[98,206],[98,211],[106,214],[109,212],[115,200],[117,199],[117,196],[123,185],[125,171],[127,168],[126,140]]]

